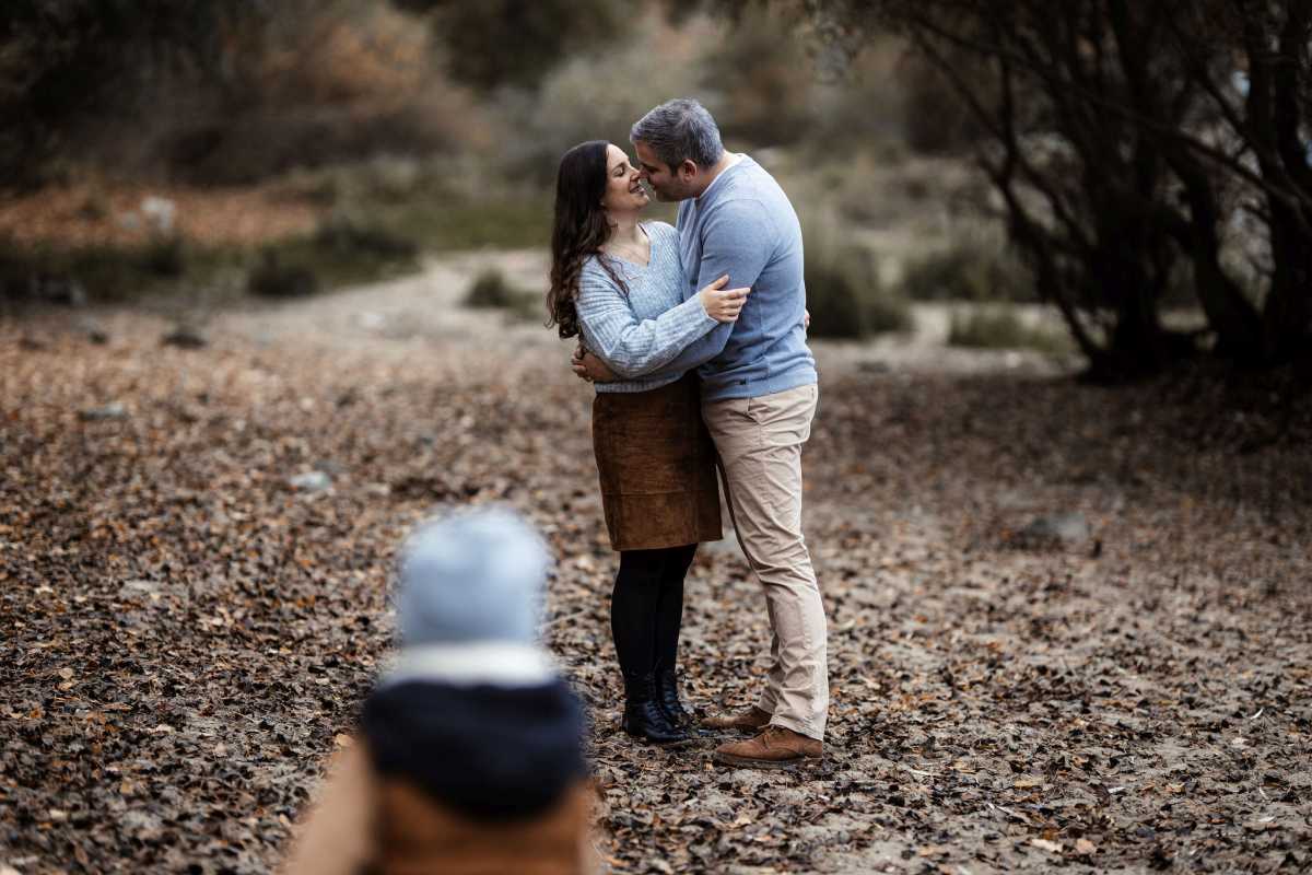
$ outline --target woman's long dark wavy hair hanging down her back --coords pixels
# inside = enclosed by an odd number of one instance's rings
[[[606,140],[588,140],[564,153],[556,172],[556,218],[551,231],[551,289],[547,290],[547,328],[559,327],[562,337],[579,333],[579,275],[588,256],[600,254],[610,237],[601,198],[606,194]],[[601,266],[626,289],[610,265]]]

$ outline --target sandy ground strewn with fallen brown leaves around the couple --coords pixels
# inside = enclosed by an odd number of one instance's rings
[[[0,323],[0,871],[274,866],[387,652],[400,538],[482,501],[559,558],[546,638],[590,710],[614,871],[1312,868],[1305,396],[817,345],[828,762],[727,770],[617,728],[563,349],[399,289],[234,315],[198,350],[143,314],[102,315],[108,345]],[[289,485],[312,470],[331,488]],[[1017,534],[1051,513],[1089,539]],[[741,558],[705,548],[691,703],[749,702],[766,643]]]

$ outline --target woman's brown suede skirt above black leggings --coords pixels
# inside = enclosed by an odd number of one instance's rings
[[[702,422],[695,374],[648,392],[597,392],[592,449],[613,548],[724,537],[715,445]]]

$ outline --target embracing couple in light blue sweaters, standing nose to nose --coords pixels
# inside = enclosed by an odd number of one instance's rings
[[[611,632],[623,728],[663,746],[697,731],[678,697],[678,636],[697,546],[723,537],[719,467],[765,593],[770,669],[757,704],[702,723],[754,733],[716,748],[719,762],[816,762],[829,690],[824,606],[802,537],[802,445],[819,399],[802,230],[774,178],[724,151],[695,100],[652,109],[630,138],[636,167],[604,140],[562,159],[547,295],[560,336],[580,336],[576,373],[597,390],[593,447],[619,551]],[[644,182],[680,202],[677,228],[639,220]]]

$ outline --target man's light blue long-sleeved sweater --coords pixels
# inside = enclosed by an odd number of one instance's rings
[[[736,323],[714,328],[647,376],[699,367],[702,397],[758,397],[816,382],[803,315],[802,227],[789,197],[748,156],[720,172],[699,198],[678,205],[684,299],[728,274],[752,286]]]

